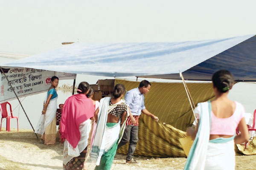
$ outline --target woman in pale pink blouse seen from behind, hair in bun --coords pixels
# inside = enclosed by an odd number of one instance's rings
[[[185,170],[234,170],[234,144],[249,140],[244,107],[227,97],[234,84],[232,74],[219,70],[212,75],[212,84],[215,99],[198,103],[196,129],[187,129],[187,135],[195,140]],[[237,127],[240,133],[235,135]]]

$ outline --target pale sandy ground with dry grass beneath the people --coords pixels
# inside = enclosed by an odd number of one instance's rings
[[[63,144],[46,146],[32,130],[11,129],[0,132],[0,170],[62,170]],[[112,170],[182,170],[186,158],[152,158],[136,156],[139,164],[125,164],[125,155],[116,154]],[[236,170],[253,170],[256,156],[236,156]],[[86,163],[86,169],[94,165]]]

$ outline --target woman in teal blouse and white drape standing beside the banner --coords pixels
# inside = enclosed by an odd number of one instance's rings
[[[51,78],[51,87],[44,99],[42,115],[38,121],[35,133],[41,134],[44,144],[55,144],[56,141],[56,111],[58,94],[55,88],[58,86],[58,77]]]

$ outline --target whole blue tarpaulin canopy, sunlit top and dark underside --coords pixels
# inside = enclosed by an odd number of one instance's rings
[[[256,81],[256,36],[187,42],[73,43],[3,64],[108,77],[210,80],[219,69]]]

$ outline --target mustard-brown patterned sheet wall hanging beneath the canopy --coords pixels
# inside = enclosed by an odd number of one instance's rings
[[[140,82],[116,79],[115,84],[123,84],[127,91],[139,86]],[[214,97],[211,83],[188,83],[189,91],[195,105]],[[139,141],[135,155],[141,156],[183,156],[185,153],[179,138],[186,136],[184,132],[192,125],[194,116],[182,83],[152,82],[151,89],[145,95],[145,107],[158,116],[159,122],[151,117],[141,115],[139,119]],[[128,144],[117,150],[126,154]]]

